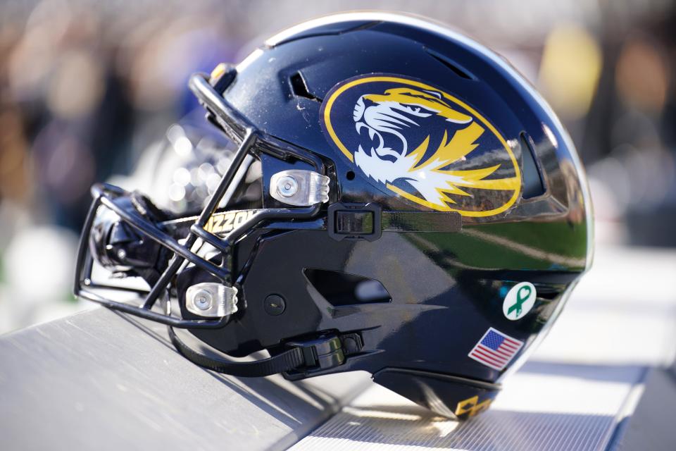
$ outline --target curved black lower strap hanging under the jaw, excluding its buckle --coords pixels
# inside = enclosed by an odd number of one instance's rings
[[[218,373],[245,378],[262,377],[291,371],[305,364],[303,350],[300,347],[294,347],[269,359],[256,360],[256,362],[231,362],[225,359],[214,359],[186,345],[178,338],[171,326],[168,326],[167,330],[169,338],[179,354],[202,368],[211,369],[211,371]]]

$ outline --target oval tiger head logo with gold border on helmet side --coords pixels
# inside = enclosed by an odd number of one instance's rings
[[[409,201],[492,216],[518,199],[511,148],[479,113],[440,89],[401,77],[356,78],[327,94],[321,116],[329,141],[363,175]]]

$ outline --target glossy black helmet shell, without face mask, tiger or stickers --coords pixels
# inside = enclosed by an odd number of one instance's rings
[[[465,116],[483,124],[488,144],[465,154],[466,167],[460,169],[513,163],[506,175],[477,178],[516,179],[511,194],[498,199],[496,190],[461,187],[470,194],[472,211],[495,212],[468,214],[446,203],[445,211],[462,215],[458,233],[383,233],[373,242],[336,241],[325,230],[302,228],[253,233],[239,243],[235,259],[246,309],[223,330],[194,333],[220,350],[245,355],[275,350],[284,340],[319,330],[356,331],[363,350],[324,373],[370,371],[378,383],[439,413],[464,414],[468,404],[462,402],[475,395],[475,404],[482,397],[489,402],[501,377],[542,340],[589,267],[592,216],[584,171],[558,118],[503,58],[411,16],[349,13],[293,27],[240,63],[224,96],[256,128],[320,155],[334,180],[332,202],[375,202],[386,211],[439,210],[376,180],[327,132],[327,99],[339,99],[332,95],[351,80],[376,77],[413,80],[418,85],[404,85],[415,87],[413,95],[419,97],[441,93],[453,125]],[[372,94],[364,99],[381,99]],[[358,112],[346,111],[333,121],[349,134]],[[450,137],[434,136],[430,142],[434,139],[443,143]],[[307,168],[272,158],[262,163],[264,193],[274,173]],[[461,197],[467,196],[449,194],[460,204]],[[485,207],[481,199],[497,200]],[[263,205],[282,204],[265,195]],[[249,257],[252,249],[255,258]],[[321,271],[347,275],[344,280],[377,280],[389,299],[337,301],[327,295],[336,283],[322,282],[316,276]],[[534,288],[534,302],[514,320],[503,305],[520,283]],[[284,314],[266,314],[270,295],[286,299]],[[469,357],[491,329],[521,343],[504,365]]]

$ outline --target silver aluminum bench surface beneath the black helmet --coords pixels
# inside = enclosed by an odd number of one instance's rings
[[[0,338],[0,449],[657,450],[676,443],[676,252],[601,247],[492,408],[434,416],[363,373],[232,378],[105,309]]]

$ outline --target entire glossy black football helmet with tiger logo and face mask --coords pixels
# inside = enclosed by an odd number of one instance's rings
[[[365,370],[445,416],[487,408],[591,260],[580,161],[532,87],[476,42],[388,13],[292,27],[189,86],[239,144],[232,165],[192,217],[94,186],[75,292],[167,324],[214,371]],[[263,194],[239,204],[254,161]],[[114,287],[139,307],[104,296],[94,260],[146,281]],[[173,328],[270,357],[208,357]]]

